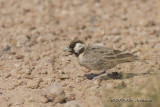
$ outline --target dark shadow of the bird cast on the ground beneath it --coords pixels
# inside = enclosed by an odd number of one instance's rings
[[[102,75],[104,72],[99,73],[99,74],[85,74],[84,76],[89,79],[92,80],[94,77]],[[141,73],[141,74],[135,74],[135,73],[117,73],[117,72],[112,72],[111,74],[108,74],[106,76],[101,77],[101,79],[103,80],[108,80],[108,79],[129,79],[129,78],[133,78],[134,76],[140,76],[140,75],[146,75],[149,73]]]

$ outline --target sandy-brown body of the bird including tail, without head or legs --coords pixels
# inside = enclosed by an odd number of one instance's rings
[[[92,70],[105,70],[117,64],[132,62],[136,57],[130,53],[112,50],[104,46],[88,46],[84,53],[78,57],[81,65]]]

